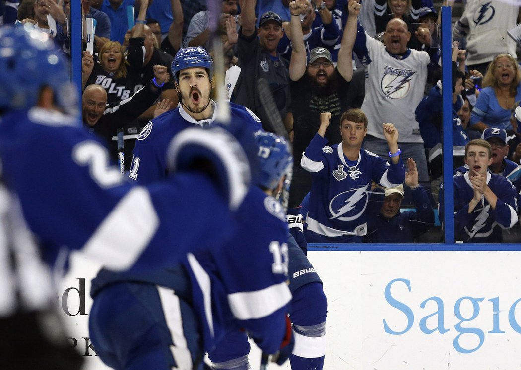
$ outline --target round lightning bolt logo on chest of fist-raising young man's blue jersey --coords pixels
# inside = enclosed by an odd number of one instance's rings
[[[333,215],[330,220],[356,220],[364,213],[368,201],[366,187],[340,193],[329,203],[329,212]]]

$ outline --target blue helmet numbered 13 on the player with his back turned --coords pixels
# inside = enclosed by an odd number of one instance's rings
[[[288,142],[281,136],[261,130],[255,133],[255,139],[259,171],[253,182],[257,186],[275,189],[293,164]]]

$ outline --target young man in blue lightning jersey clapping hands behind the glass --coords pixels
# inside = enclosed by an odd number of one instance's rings
[[[502,229],[517,223],[517,193],[501,175],[488,172],[492,147],[483,139],[465,146],[468,172],[453,177],[454,238],[460,242],[501,243]],[[443,186],[440,188],[439,217],[443,225]]]

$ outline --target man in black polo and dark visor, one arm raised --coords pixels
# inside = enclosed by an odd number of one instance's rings
[[[242,26],[239,29],[237,57],[241,74],[233,90],[231,101],[247,107],[263,123],[263,129],[274,132],[271,120],[261,104],[257,92],[257,81],[266,79],[282,119],[286,117],[290,104],[288,61],[280,57],[277,46],[284,34],[282,19],[268,11],[255,28],[256,0],[244,0]]]

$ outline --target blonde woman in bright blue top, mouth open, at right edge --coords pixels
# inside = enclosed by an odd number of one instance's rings
[[[470,126],[483,131],[488,127],[515,130],[513,109],[521,101],[521,71],[510,54],[495,56],[483,78],[481,90],[472,115]]]

